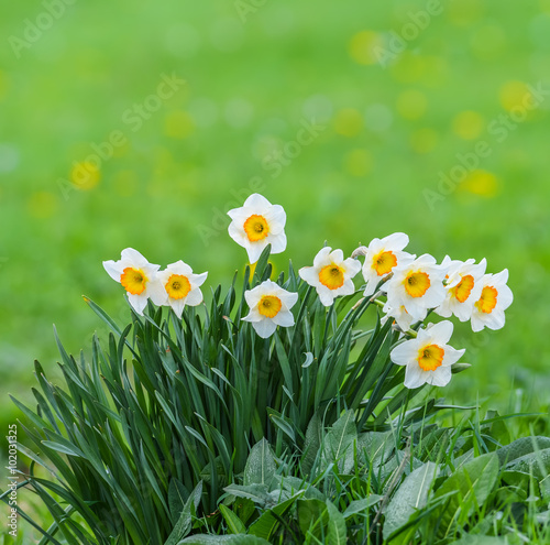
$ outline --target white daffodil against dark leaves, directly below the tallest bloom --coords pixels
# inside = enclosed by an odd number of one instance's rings
[[[250,321],[263,339],[271,337],[277,326],[294,326],[290,308],[298,301],[297,293],[287,292],[275,282],[266,280],[253,290],[244,292],[244,298],[250,313],[242,319]]]

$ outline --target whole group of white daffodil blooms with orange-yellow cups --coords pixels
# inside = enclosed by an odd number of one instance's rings
[[[251,263],[268,246],[272,253],[285,251],[286,214],[282,206],[254,194],[228,215],[229,235],[246,250]],[[463,262],[446,257],[438,263],[429,254],[408,253],[405,250],[408,243],[405,233],[396,232],[373,239],[349,258],[340,249],[324,247],[314,258],[312,265],[299,270],[299,276],[315,288],[324,307],[354,293],[375,302],[384,313],[383,320],[392,320],[393,327],[403,334],[389,357],[395,364],[406,367],[404,385],[444,386],[464,349],[449,345],[453,333],[451,321],[426,324],[427,318],[432,313],[443,318],[455,316],[460,321],[470,320],[473,331],[502,328],[505,310],[514,298],[507,286],[508,271],[486,274],[485,259],[476,263],[473,259]],[[147,301],[169,306],[178,318],[186,305],[202,303],[200,286],[208,273],[195,274],[184,261],[161,270],[136,250],[127,248],[119,261],[105,261],[103,266],[124,287],[130,305],[139,315],[143,315]],[[355,280],[360,272],[362,285]],[[295,327],[298,297],[297,292],[265,280],[245,292],[249,312],[241,320],[250,323],[257,336],[267,339],[277,328]]]

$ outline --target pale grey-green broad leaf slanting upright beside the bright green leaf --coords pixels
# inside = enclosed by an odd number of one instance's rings
[[[402,482],[385,512],[384,539],[404,526],[418,510],[426,506],[436,475],[437,465],[429,461],[415,469]]]

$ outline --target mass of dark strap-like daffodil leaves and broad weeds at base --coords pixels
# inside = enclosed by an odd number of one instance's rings
[[[267,258],[243,293],[270,277]],[[85,361],[58,341],[66,385],[36,362],[36,408],[15,401],[33,442],[20,492],[52,522],[20,515],[41,545],[544,543],[549,438],[499,449],[495,414],[444,427],[441,411],[461,407],[404,389],[399,333],[377,312],[364,330],[371,299],[326,309],[292,266],[278,282],[301,303],[270,339],[241,321],[234,283],[204,314],[151,305],[124,329],[87,299],[108,344]]]

